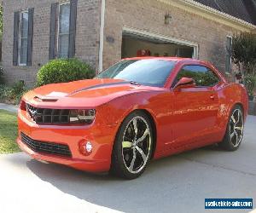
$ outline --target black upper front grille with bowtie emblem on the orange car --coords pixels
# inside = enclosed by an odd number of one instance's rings
[[[70,110],[45,109],[26,104],[26,112],[37,124],[68,124]]]

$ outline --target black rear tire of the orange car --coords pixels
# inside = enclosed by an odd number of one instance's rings
[[[239,113],[241,117],[239,116]],[[238,130],[238,129],[236,130],[236,128],[241,128],[241,130]],[[236,151],[241,145],[243,130],[244,130],[243,111],[239,105],[236,105],[230,113],[230,118],[229,118],[226,132],[224,135],[224,140],[218,144],[219,147],[222,147],[224,150],[227,150],[227,151]]]

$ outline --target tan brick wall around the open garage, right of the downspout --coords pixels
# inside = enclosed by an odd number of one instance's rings
[[[226,36],[236,32],[229,26],[155,0],[107,0],[106,5],[104,68],[121,58],[122,28],[127,26],[198,43],[199,59],[224,70]],[[172,15],[169,25],[165,25],[166,13]],[[113,37],[114,43],[108,43],[106,37]]]

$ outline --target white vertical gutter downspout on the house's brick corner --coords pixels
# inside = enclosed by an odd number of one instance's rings
[[[101,26],[100,26],[100,47],[99,47],[99,66],[98,72],[103,70],[103,49],[104,49],[104,26],[105,26],[106,0],[102,0],[101,5]]]

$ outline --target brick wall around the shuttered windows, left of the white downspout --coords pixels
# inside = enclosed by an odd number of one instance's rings
[[[56,0],[3,0],[3,69],[8,83],[25,80],[32,86],[40,66],[49,60],[50,6]],[[34,8],[32,66],[12,66],[15,11]],[[76,57],[97,67],[100,0],[79,0]]]

